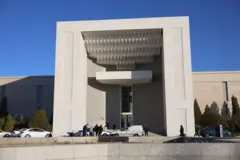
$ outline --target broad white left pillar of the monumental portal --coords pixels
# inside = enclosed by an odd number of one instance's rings
[[[79,130],[86,123],[87,56],[78,31],[57,29],[54,135]]]

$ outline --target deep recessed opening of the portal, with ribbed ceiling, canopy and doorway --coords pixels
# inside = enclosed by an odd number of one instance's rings
[[[110,128],[116,125],[118,129],[143,125],[154,133],[162,133],[163,29],[82,34],[88,56],[88,122],[108,121]],[[96,76],[97,73],[104,74]],[[148,73],[150,78],[143,76]]]

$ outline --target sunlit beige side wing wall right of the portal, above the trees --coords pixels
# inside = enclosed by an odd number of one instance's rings
[[[224,102],[231,109],[231,97],[240,98],[240,72],[194,72],[194,98],[204,112],[206,105],[216,102],[219,112]]]

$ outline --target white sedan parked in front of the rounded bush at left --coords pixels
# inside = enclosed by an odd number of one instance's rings
[[[52,133],[40,128],[29,128],[21,132],[21,137],[52,137]]]

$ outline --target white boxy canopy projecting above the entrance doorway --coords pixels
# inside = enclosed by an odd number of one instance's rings
[[[136,85],[151,83],[152,71],[97,72],[96,80],[102,84]]]

